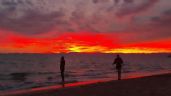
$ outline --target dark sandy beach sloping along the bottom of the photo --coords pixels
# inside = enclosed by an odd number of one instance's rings
[[[170,81],[171,74],[163,74],[120,81],[77,83],[65,88],[36,88],[1,96],[171,96]]]

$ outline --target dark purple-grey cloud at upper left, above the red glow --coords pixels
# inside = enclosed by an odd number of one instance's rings
[[[64,14],[61,12],[41,14],[35,11],[28,11],[26,16],[19,19],[13,19],[2,14],[0,18],[0,27],[24,34],[48,32],[55,25],[65,23],[65,21],[61,19],[63,15]]]

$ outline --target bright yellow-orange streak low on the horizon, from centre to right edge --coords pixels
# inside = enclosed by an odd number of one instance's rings
[[[70,52],[83,52],[83,53],[170,53],[170,49],[159,49],[159,48],[114,48],[109,49],[102,46],[72,46],[69,48]]]

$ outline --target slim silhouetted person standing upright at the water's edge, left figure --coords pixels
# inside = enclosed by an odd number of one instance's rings
[[[61,60],[60,60],[60,70],[61,70],[62,84],[64,86],[64,83],[65,83],[65,76],[64,76],[64,72],[65,72],[65,59],[64,59],[64,56],[62,56]]]

